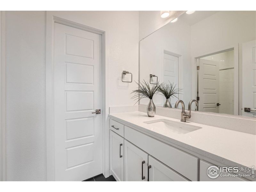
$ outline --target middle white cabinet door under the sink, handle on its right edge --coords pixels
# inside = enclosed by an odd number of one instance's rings
[[[148,154],[124,140],[124,180],[148,180]]]

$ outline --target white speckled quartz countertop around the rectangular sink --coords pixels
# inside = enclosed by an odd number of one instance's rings
[[[253,134],[197,124],[189,122],[189,119],[184,124],[196,125],[202,129],[178,134],[143,122],[155,119],[180,122],[180,119],[158,115],[148,117],[147,113],[139,111],[110,114],[109,117],[228,166],[256,165],[256,135]]]

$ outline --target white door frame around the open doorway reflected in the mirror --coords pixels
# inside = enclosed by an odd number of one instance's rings
[[[239,101],[240,101],[240,94],[239,94],[239,72],[240,72],[240,68],[239,68],[239,63],[238,63],[238,44],[235,45],[231,45],[231,46],[227,46],[227,47],[223,47],[220,48],[219,50],[212,50],[209,52],[204,52],[201,54],[198,54],[197,56],[193,57],[194,60],[194,79],[195,79],[195,89],[194,89],[194,94],[192,93],[191,90],[191,96],[192,97],[197,97],[198,96],[198,71],[197,71],[197,66],[198,66],[198,59],[206,57],[206,56],[210,56],[210,55],[214,55],[214,54],[218,54],[218,53],[222,53],[222,52],[227,52],[227,51],[231,51],[234,50],[234,115],[238,116],[239,113]],[[193,69],[192,69],[193,70]],[[193,82],[193,79],[192,81]],[[201,112],[201,111],[200,111]],[[210,112],[206,112],[206,113],[210,113]],[[216,113],[216,114],[220,114],[220,113]],[[228,115],[228,114],[222,114],[222,115]],[[228,115],[229,116],[229,115]],[[241,117],[241,116],[238,116]]]

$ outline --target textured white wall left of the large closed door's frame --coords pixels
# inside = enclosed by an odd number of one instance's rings
[[[6,12],[6,180],[45,180],[45,12]]]

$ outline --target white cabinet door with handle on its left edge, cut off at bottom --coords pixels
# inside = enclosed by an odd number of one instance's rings
[[[149,181],[188,181],[187,178],[151,156],[148,156],[148,176]]]

